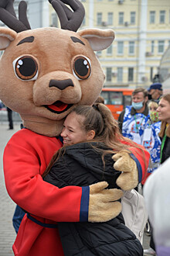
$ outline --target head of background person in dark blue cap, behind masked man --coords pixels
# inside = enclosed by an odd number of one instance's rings
[[[162,84],[154,83],[148,88],[148,99],[154,100],[155,102],[159,102],[159,99],[162,96]]]

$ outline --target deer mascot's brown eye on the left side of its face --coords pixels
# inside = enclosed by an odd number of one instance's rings
[[[38,64],[31,56],[22,56],[13,61],[15,74],[21,80],[36,80],[38,77]]]

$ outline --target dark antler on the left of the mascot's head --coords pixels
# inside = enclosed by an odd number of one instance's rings
[[[0,19],[17,33],[31,29],[26,16],[26,2],[21,1],[19,3],[19,19],[16,18],[13,2],[14,0],[0,0]]]

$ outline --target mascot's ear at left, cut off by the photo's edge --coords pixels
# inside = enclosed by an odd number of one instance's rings
[[[8,28],[0,28],[0,50],[5,50],[15,40],[17,33]]]

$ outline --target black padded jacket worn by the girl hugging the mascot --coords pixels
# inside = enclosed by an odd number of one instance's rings
[[[104,144],[94,145],[106,148]],[[89,143],[66,147],[65,154],[44,180],[59,188],[66,185],[88,186],[101,181],[107,181],[109,188],[117,188],[116,179],[120,172],[113,168],[112,155],[105,155],[105,167],[101,155]],[[65,256],[143,255],[139,240],[124,225],[122,214],[106,223],[58,223],[58,227]]]

